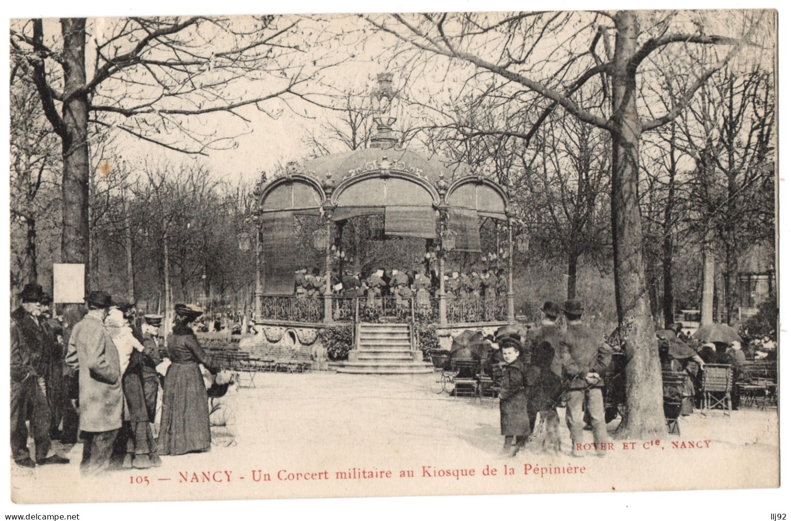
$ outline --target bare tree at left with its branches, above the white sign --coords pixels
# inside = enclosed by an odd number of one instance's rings
[[[233,146],[233,132],[206,131],[208,116],[244,126],[244,107],[276,116],[268,101],[315,101],[306,84],[328,63],[316,55],[302,59],[309,42],[300,37],[300,22],[62,18],[56,29],[52,21],[13,21],[13,62],[35,83],[62,145],[63,261],[89,257],[89,127],[189,154]]]

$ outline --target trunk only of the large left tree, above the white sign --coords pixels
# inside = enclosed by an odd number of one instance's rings
[[[88,263],[88,96],[85,87],[85,18],[62,18],[66,136],[62,139],[63,178],[61,258]],[[90,269],[90,268],[89,268]],[[86,276],[88,270],[85,270]],[[86,277],[87,278],[87,277]],[[93,288],[96,289],[96,288]]]

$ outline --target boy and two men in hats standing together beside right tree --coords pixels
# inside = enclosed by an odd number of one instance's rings
[[[607,440],[604,420],[604,373],[611,364],[613,349],[582,321],[584,307],[577,299],[563,306],[545,302],[542,321],[537,329],[509,331],[494,337],[494,350],[487,356],[490,367],[499,367],[495,375],[499,386],[500,427],[505,436],[503,452],[517,454],[538,433],[536,420],[541,417],[543,433],[539,442],[544,448],[558,451],[558,406],[565,394],[566,425],[572,442],[571,454],[585,456],[580,449],[586,420],[593,431],[596,454]],[[558,325],[565,316],[566,328]],[[587,414],[587,417],[585,416]]]

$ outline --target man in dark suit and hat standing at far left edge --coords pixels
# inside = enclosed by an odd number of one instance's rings
[[[32,468],[50,463],[68,463],[58,454],[47,457],[51,448],[50,409],[47,403],[45,376],[50,370],[51,345],[46,345],[41,326],[41,300],[38,284],[26,284],[20,297],[22,304],[11,314],[11,452],[18,466]],[[28,451],[30,421],[36,443],[36,461]]]

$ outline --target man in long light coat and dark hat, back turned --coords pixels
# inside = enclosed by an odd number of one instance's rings
[[[85,303],[88,314],[74,325],[66,363],[79,371],[83,439],[80,471],[89,477],[103,473],[110,465],[113,443],[122,424],[123,389],[118,350],[104,329],[112,299],[104,291],[91,291]]]

